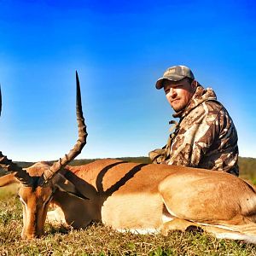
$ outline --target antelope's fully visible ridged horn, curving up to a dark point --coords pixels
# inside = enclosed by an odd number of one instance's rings
[[[79,75],[76,72],[76,81],[77,81],[77,121],[79,127],[79,139],[77,143],[74,145],[73,149],[69,151],[68,154],[65,154],[60,160],[56,161],[52,166],[49,167],[43,174],[44,182],[48,182],[56,172],[60,171],[62,167],[66,166],[71,160],[73,160],[77,155],[79,155],[86,144],[86,125],[84,124],[84,116],[82,110],[82,102],[81,102],[81,92],[80,92],[80,83],[79,83]]]

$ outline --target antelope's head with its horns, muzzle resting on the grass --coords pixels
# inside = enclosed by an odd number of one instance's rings
[[[0,151],[0,167],[8,171],[9,174],[0,177],[0,187],[10,183],[20,183],[19,196],[23,207],[23,229],[22,238],[31,239],[44,234],[44,223],[55,189],[61,189],[57,182],[65,183],[65,191],[75,194],[75,187],[70,183],[60,171],[78,154],[86,143],[86,125],[82,111],[79,76],[76,73],[77,102],[76,112],[79,128],[79,138],[68,154],[65,154],[53,165],[39,162],[29,168],[23,169],[12,160],[9,160]],[[2,97],[0,90],[0,114],[2,110]]]

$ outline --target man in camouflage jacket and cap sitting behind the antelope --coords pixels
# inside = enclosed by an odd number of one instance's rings
[[[236,127],[211,88],[204,89],[189,67],[166,70],[155,84],[179,118],[164,148],[149,152],[154,163],[222,170],[239,175]],[[174,122],[171,121],[173,124]]]

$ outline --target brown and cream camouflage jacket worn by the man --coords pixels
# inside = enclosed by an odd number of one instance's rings
[[[199,85],[164,148],[149,152],[154,163],[222,170],[238,176],[236,127],[212,89]]]

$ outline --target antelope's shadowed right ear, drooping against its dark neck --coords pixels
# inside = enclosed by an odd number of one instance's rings
[[[53,177],[52,183],[55,185],[56,188],[60,189],[63,192],[67,192],[70,195],[79,197],[83,200],[89,200],[88,197],[84,196],[80,193],[79,189],[70,182],[66,177],[64,177],[61,173],[56,173],[55,177]]]

